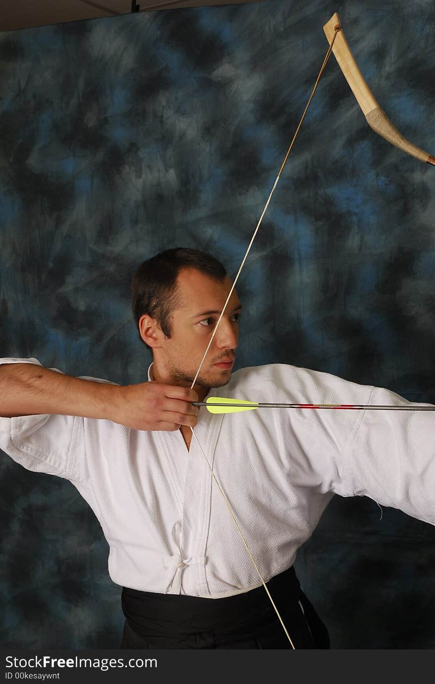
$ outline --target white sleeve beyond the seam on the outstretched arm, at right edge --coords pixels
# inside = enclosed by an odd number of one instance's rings
[[[369,404],[411,405],[380,387]],[[370,497],[435,525],[435,412],[366,410],[345,452],[349,492],[340,493]]]

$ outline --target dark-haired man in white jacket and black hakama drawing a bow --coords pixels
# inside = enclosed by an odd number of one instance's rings
[[[69,479],[95,512],[110,577],[123,586],[122,648],[292,647],[203,453],[295,648],[329,647],[293,562],[334,493],[435,522],[430,412],[224,416],[192,406],[211,388],[261,402],[409,404],[290,365],[232,374],[236,291],[190,390],[231,285],[221,263],[197,250],[166,250],[140,265],[132,304],[153,354],[149,382],[119,386],[36,359],[1,360],[0,447],[29,470]]]

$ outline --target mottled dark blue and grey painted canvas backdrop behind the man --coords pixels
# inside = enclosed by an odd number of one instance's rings
[[[430,0],[276,0],[0,35],[1,356],[146,379],[134,269],[191,246],[234,276],[336,10],[380,104],[433,153]],[[238,285],[236,368],[290,363],[434,402],[434,182],[366,126],[332,57]],[[69,482],[1,456],[3,646],[116,648],[121,588],[97,519]],[[335,497],[299,553],[301,584],[334,648],[432,648],[434,528],[380,518],[369,499]]]

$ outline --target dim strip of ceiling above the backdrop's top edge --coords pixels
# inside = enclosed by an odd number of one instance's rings
[[[232,5],[257,0],[139,0],[140,12],[147,8],[171,9],[202,5]],[[0,0],[0,31],[116,16],[132,11],[132,0]]]

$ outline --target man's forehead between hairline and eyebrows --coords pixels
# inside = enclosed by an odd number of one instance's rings
[[[215,308],[222,308],[231,287],[232,280],[228,276],[219,282],[194,268],[182,269],[177,276],[177,293],[182,296],[182,306],[201,308],[206,305],[207,308],[213,308],[215,304]],[[235,302],[235,306],[238,304],[236,289],[232,292],[230,302]]]

